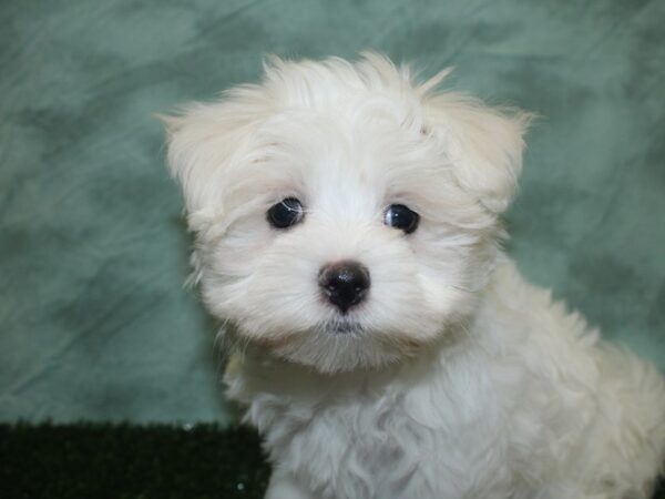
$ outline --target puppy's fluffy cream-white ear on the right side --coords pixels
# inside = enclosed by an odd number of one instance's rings
[[[424,99],[427,121],[443,142],[460,186],[500,214],[514,195],[522,169],[523,135],[532,114],[492,109],[459,93]]]

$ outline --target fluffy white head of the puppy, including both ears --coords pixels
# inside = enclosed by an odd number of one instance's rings
[[[207,307],[323,373],[446,335],[491,269],[528,118],[406,69],[273,61],[262,84],[167,119]]]

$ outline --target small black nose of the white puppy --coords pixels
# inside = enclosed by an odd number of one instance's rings
[[[321,267],[319,286],[337,308],[345,314],[358,305],[369,289],[369,271],[358,262],[337,262]]]

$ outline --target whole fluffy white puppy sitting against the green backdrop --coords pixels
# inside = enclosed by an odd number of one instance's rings
[[[647,498],[665,383],[501,252],[530,116],[444,75],[275,59],[167,119],[267,497]]]

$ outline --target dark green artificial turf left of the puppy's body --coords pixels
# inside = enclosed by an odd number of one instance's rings
[[[0,425],[2,499],[258,499],[255,431],[197,425]]]

